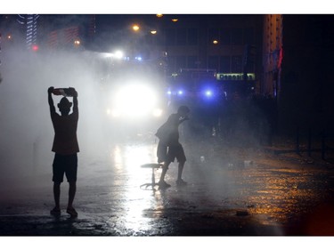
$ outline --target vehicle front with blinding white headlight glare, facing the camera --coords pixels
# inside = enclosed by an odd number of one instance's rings
[[[112,60],[100,81],[104,123],[114,132],[153,133],[165,119],[166,85],[155,61]]]

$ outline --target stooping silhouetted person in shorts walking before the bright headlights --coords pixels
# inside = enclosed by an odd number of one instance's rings
[[[178,162],[178,173],[177,173],[177,186],[183,186],[187,183],[183,181],[183,167],[186,161],[186,157],[183,150],[183,145],[179,141],[179,130],[178,127],[183,121],[188,120],[188,114],[190,109],[187,106],[180,106],[177,109],[177,113],[171,114],[167,121],[161,125],[156,133],[159,138],[157,157],[159,163],[164,163],[162,167],[162,173],[158,182],[159,189],[166,189],[170,187],[165,181],[165,175],[168,170],[168,166],[175,161]]]

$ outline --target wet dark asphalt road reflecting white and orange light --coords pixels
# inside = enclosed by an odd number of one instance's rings
[[[188,185],[176,187],[174,164],[166,179],[171,188],[158,190],[141,187],[151,182],[151,169],[140,166],[155,162],[156,146],[151,138],[109,145],[100,155],[80,153],[75,219],[65,213],[66,182],[61,185],[61,216],[49,214],[48,171],[3,179],[0,235],[334,235],[334,169],[319,156],[273,155],[219,143],[195,149],[185,143],[190,157],[183,179]],[[154,173],[158,181],[161,169]]]

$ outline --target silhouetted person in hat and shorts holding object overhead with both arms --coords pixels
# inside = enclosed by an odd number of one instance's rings
[[[69,88],[73,96],[73,111],[69,114],[72,103],[66,97],[62,97],[58,103],[61,112],[59,115],[53,105],[53,87],[48,89],[48,102],[50,106],[51,120],[53,122],[54,139],[53,148],[53,198],[55,206],[50,214],[60,215],[61,206],[61,182],[64,174],[69,181],[69,201],[66,209],[71,217],[77,217],[77,211],[73,207],[73,200],[77,191],[77,91]]]

